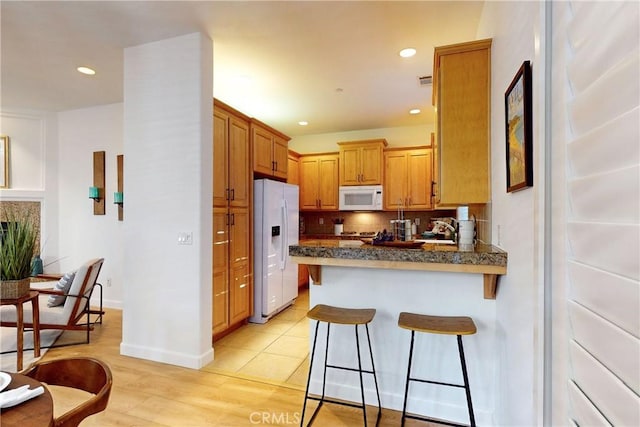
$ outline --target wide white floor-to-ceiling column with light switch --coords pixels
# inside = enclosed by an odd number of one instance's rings
[[[120,351],[197,369],[213,359],[213,44],[195,33],[124,55]]]

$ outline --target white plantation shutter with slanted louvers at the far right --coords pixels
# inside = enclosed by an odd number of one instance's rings
[[[566,141],[553,143],[566,142],[565,214],[554,221],[566,236],[567,424],[639,426],[639,3],[554,10],[568,24],[553,27],[565,69],[552,93],[566,114],[554,133]]]

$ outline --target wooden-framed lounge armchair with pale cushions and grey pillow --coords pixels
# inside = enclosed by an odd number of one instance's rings
[[[90,342],[90,332],[96,322],[102,322],[102,303],[100,310],[92,310],[90,307],[91,295],[96,286],[100,288],[102,294],[102,285],[97,283],[98,274],[104,263],[104,258],[96,258],[84,263],[77,271],[66,294],[55,289],[41,289],[34,287],[34,290],[40,292],[40,330],[59,329],[59,330],[80,330],[86,331],[86,340],[83,343]],[[51,286],[51,282],[46,282],[46,286]],[[44,285],[44,284],[39,284]],[[32,287],[34,285],[32,284]],[[55,307],[48,307],[47,300],[50,295],[66,296],[64,304]],[[102,300],[102,295],[100,295]],[[13,307],[2,307],[0,310],[0,325],[8,327],[16,327],[16,311]],[[97,317],[91,321],[91,315]],[[24,327],[33,328],[33,314],[31,308],[25,306],[24,309]],[[74,343],[77,344],[77,343]]]

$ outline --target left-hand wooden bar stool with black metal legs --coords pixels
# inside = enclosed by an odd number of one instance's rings
[[[322,404],[324,402],[327,402],[327,403],[335,403],[338,405],[351,406],[353,408],[361,408],[362,413],[364,415],[364,425],[366,426],[367,425],[367,409],[364,401],[364,385],[363,385],[363,377],[362,377],[363,373],[373,375],[373,381],[376,386],[376,395],[378,396],[378,417],[376,419],[376,425],[378,425],[378,423],[380,422],[380,415],[381,415],[380,392],[378,391],[378,379],[376,378],[375,365],[373,364],[373,351],[371,350],[371,339],[369,337],[369,323],[373,320],[373,317],[375,316],[375,314],[376,314],[376,310],[372,308],[365,308],[365,309],[340,308],[340,307],[332,307],[324,304],[318,304],[315,307],[313,307],[311,310],[309,310],[309,312],[307,313],[307,317],[309,319],[313,319],[316,321],[316,328],[315,328],[315,333],[313,337],[313,347],[311,350],[311,363],[309,365],[309,376],[307,378],[307,389],[304,394],[304,404],[302,406],[302,417],[300,418],[300,426],[304,425],[304,413],[307,407],[307,400],[309,399],[318,400],[320,401],[320,404],[311,415],[311,419],[309,420],[309,424],[307,425],[311,425],[313,423],[313,420],[315,419],[316,415],[318,414],[318,411],[322,407]],[[327,323],[327,341],[326,341],[326,347],[325,347],[325,353],[324,353],[324,372],[322,375],[322,396],[316,397],[316,396],[309,395],[309,383],[311,382],[311,372],[313,370],[313,359],[316,352],[316,340],[318,339],[318,326],[320,325],[320,322]],[[332,323],[339,324],[339,325],[354,325],[355,332],[356,332],[356,351],[358,354],[357,369],[344,367],[344,366],[330,365],[328,363],[327,358],[329,355],[329,331],[331,329]],[[360,341],[358,339],[358,325],[364,325],[365,330],[367,332],[369,356],[371,357],[371,370],[362,369],[362,360],[360,358]],[[327,368],[358,372],[358,374],[360,375],[360,395],[362,397],[362,405],[325,398]]]

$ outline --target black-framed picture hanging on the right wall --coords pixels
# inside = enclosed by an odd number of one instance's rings
[[[507,193],[533,186],[531,63],[524,61],[504,93]]]

